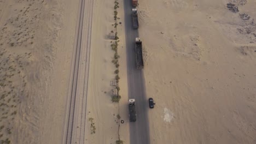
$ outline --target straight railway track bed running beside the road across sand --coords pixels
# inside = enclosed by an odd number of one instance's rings
[[[80,0],[63,143],[85,143],[93,0]]]

